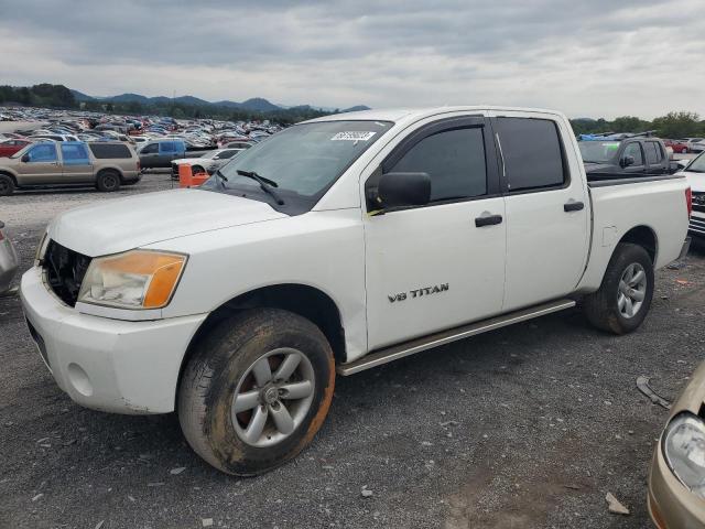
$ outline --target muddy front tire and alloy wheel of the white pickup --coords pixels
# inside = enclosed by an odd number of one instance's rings
[[[293,374],[278,381],[275,375],[284,375],[288,363],[295,365]],[[180,381],[178,420],[186,441],[206,462],[227,474],[252,476],[311,443],[334,387],[333,350],[316,325],[288,311],[245,311],[196,345]],[[282,408],[292,422],[281,417]]]

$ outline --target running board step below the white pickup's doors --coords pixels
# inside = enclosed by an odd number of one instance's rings
[[[469,325],[463,325],[460,327],[451,328],[441,333],[431,334],[422,338],[404,342],[403,344],[392,345],[384,349],[379,349],[375,353],[364,356],[362,358],[351,361],[350,364],[343,364],[337,367],[338,375],[348,376],[356,373],[370,369],[372,367],[381,366],[389,361],[398,360],[405,356],[415,355],[440,345],[449,344],[458,339],[464,339],[476,334],[487,333],[495,331],[496,328],[506,327],[519,322],[525,322],[527,320],[533,320],[534,317],[544,316],[552,312],[563,311],[575,306],[573,300],[557,300],[541,305],[534,305],[529,309],[522,309],[521,311],[510,312],[509,314],[502,314],[501,316],[491,317],[481,322],[470,323]]]

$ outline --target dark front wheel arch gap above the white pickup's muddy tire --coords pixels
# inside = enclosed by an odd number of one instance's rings
[[[301,283],[281,283],[262,287],[226,301],[208,314],[194,334],[178,370],[178,385],[182,375],[198,343],[208,332],[232,314],[248,309],[282,309],[312,321],[326,336],[336,363],[346,359],[345,330],[340,311],[335,301],[322,290]],[[175,398],[178,396],[178,390]]]

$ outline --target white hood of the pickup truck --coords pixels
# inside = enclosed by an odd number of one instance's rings
[[[58,215],[48,236],[89,257],[286,215],[263,202],[198,190],[172,190],[78,207]]]

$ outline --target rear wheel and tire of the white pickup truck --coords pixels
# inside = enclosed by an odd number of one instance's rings
[[[585,315],[603,331],[631,333],[647,317],[653,284],[653,263],[647,250],[639,245],[620,242],[607,264],[599,290],[583,300]]]

